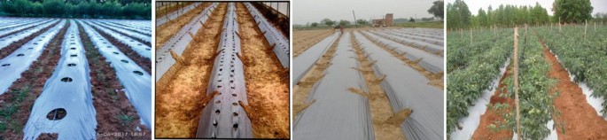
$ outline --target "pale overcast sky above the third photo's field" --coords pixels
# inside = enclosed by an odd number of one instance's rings
[[[381,19],[385,13],[394,13],[394,19],[430,18],[428,9],[435,0],[293,0],[293,24],[320,22],[322,19],[354,20]]]

